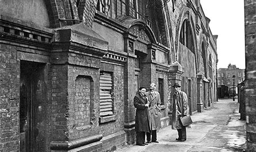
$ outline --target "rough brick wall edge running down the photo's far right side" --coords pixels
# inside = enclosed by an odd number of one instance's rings
[[[255,1],[245,2],[245,103],[247,151],[256,151],[256,52]]]

